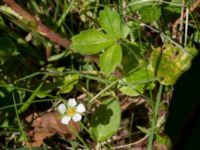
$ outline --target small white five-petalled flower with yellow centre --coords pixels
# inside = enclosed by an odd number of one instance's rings
[[[76,105],[76,100],[74,98],[70,98],[67,103],[67,108],[63,103],[58,106],[58,111],[62,114],[62,124],[68,124],[71,119],[74,122],[78,122],[82,119],[81,113],[86,111],[85,106],[81,103],[77,106]]]

